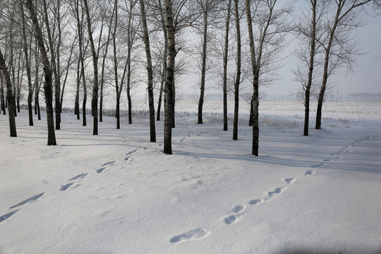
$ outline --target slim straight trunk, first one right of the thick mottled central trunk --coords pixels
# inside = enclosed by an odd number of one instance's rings
[[[205,94],[205,74],[206,74],[206,56],[207,56],[207,4],[202,11],[204,20],[204,29],[202,31],[202,63],[200,80],[200,99],[198,99],[198,124],[202,124],[202,107],[204,105]]]

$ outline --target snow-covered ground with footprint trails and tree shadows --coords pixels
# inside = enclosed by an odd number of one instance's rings
[[[44,112],[21,111],[18,138],[1,115],[0,253],[381,253],[381,104],[327,103],[304,137],[302,104],[262,102],[260,157],[247,109],[234,141],[221,102],[198,125],[180,101],[174,155],[164,121],[150,143],[142,116],[93,136],[63,114],[49,147]]]

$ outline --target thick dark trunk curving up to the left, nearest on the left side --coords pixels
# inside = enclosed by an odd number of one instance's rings
[[[44,94],[47,107],[47,129],[48,129],[48,142],[47,145],[56,145],[56,134],[54,132],[54,116],[53,116],[53,93],[52,93],[52,71],[50,69],[49,58],[44,46],[44,37],[42,36],[42,30],[37,20],[35,8],[32,0],[26,0],[26,5],[29,9],[30,18],[32,19],[33,28],[35,30],[35,37],[40,47],[41,59],[44,64]]]

